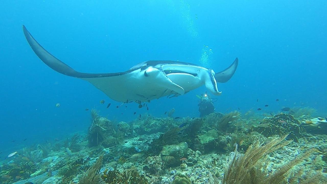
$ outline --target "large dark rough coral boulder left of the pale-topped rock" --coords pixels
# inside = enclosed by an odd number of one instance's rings
[[[264,118],[259,124],[252,125],[252,130],[261,133],[265,137],[289,134],[287,138],[294,139],[296,142],[305,131],[299,120],[295,119],[293,115],[284,113]]]

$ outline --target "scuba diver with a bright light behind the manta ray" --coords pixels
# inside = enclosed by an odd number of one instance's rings
[[[207,94],[207,92],[205,92],[204,94],[201,94],[201,96],[197,95],[197,97],[200,98],[199,104],[198,104],[200,118],[215,112],[214,102],[217,101],[217,98],[211,99],[210,96]]]

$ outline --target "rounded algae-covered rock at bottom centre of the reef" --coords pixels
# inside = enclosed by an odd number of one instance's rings
[[[173,145],[164,145],[161,155],[163,156],[173,156],[176,159],[180,159],[186,156],[188,151],[188,145],[186,142]]]

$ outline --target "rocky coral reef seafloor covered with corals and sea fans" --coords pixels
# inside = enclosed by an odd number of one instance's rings
[[[320,117],[234,111],[144,115],[126,123],[92,113],[87,133],[25,147],[1,161],[0,183],[326,182],[327,126]]]

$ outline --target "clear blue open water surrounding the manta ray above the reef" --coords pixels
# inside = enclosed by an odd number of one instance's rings
[[[207,91],[153,100],[149,111],[136,104],[117,109],[119,102],[90,83],[43,64],[26,42],[23,24],[45,49],[80,72],[125,71],[147,60],[178,60],[219,72],[238,57],[235,75],[218,84],[223,94],[216,111],[244,113],[268,104],[263,113],[302,104],[326,116],[326,9],[323,0],[3,0],[0,155],[86,131],[85,108],[127,122],[135,111],[163,117],[172,108],[175,116],[197,117],[196,95]]]

